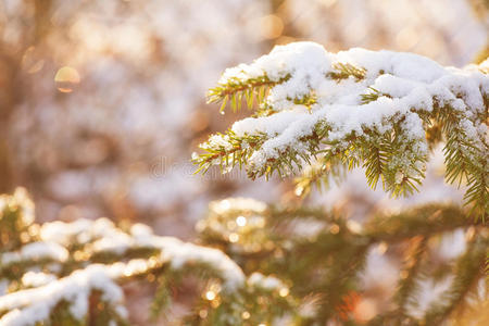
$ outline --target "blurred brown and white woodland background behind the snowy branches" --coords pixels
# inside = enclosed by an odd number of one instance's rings
[[[40,222],[109,216],[184,239],[210,200],[294,200],[290,181],[192,175],[198,143],[238,117],[205,104],[220,74],[296,40],[462,66],[487,47],[487,0],[1,0],[0,192],[26,187]],[[310,201],[343,206],[352,218],[386,203],[460,201],[437,173],[441,163],[430,165],[423,198],[392,201],[353,173]]]

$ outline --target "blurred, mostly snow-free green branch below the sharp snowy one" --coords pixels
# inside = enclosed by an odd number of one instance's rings
[[[409,314],[406,306],[417,293],[428,240],[459,228],[484,230],[481,221],[467,216],[467,210],[457,206],[427,204],[397,214],[376,215],[356,229],[340,212],[226,199],[210,205],[209,216],[199,223],[198,231],[203,243],[226,252],[247,274],[259,268],[281,275],[292,285],[290,293],[294,298],[304,300],[311,293],[321,298],[315,304],[316,314],[303,318],[306,325],[338,316],[342,316],[341,323],[350,321],[350,313],[342,306],[349,293],[360,290],[356,278],[369,249],[380,242],[411,242],[401,273],[405,277],[399,279],[394,297],[397,308],[371,324],[418,325],[419,321]],[[298,230],[305,228],[314,231]]]

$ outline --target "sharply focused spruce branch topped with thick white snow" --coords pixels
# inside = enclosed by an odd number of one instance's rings
[[[251,178],[315,165],[308,174],[327,179],[331,166],[363,166],[372,187],[380,179],[399,196],[416,190],[429,149],[444,141],[447,179],[466,180],[467,202],[487,214],[488,67],[360,48],[330,53],[313,42],[277,46],[226,70],[210,90],[222,110],[243,102],[255,111],[211,136],[193,161],[204,172],[244,165]]]

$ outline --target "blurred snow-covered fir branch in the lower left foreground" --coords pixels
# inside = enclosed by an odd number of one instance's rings
[[[23,189],[0,197],[1,326],[128,325],[126,281],[158,283],[153,312],[160,313],[171,300],[168,287],[185,276],[206,284],[199,309],[187,317],[190,324],[200,325],[203,313],[223,325],[239,324],[243,313],[263,308],[251,300],[256,296],[274,308],[253,313],[250,323],[294,311],[297,303],[283,296],[288,287],[279,279],[260,273],[247,277],[221,250],[160,237],[142,224],[124,230],[108,218],[38,225],[33,208]],[[22,230],[18,242],[5,236]]]

